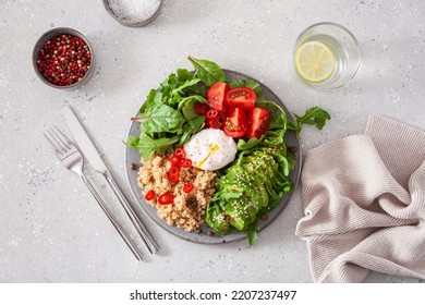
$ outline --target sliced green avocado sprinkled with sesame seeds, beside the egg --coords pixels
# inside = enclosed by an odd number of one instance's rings
[[[288,173],[294,162],[287,147],[259,144],[240,152],[236,162],[221,173],[207,208],[207,223],[220,234],[230,227],[246,231],[256,217],[272,210],[293,190]]]

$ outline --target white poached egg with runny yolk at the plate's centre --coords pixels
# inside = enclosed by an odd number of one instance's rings
[[[206,129],[192,136],[184,150],[193,167],[216,171],[234,161],[238,148],[222,130]]]

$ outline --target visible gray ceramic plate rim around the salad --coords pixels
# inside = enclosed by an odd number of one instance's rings
[[[230,71],[230,70],[224,70],[226,75],[230,80],[240,80],[240,78],[251,78],[253,81],[253,77],[246,76],[244,74],[241,74],[239,72]],[[282,101],[264,84],[260,82],[256,81],[258,84],[260,84],[263,94],[265,97],[269,100],[274,100],[278,102],[283,110],[286,111],[288,118],[291,120],[293,119],[293,115],[287,110]],[[139,113],[136,113],[138,115]],[[133,122],[130,126],[129,135],[133,136],[139,136],[139,123]],[[300,178],[300,172],[301,172],[301,149],[300,149],[300,142],[296,138],[295,134],[293,132],[287,132],[286,135],[286,142],[290,146],[295,146],[298,147],[296,149],[296,166],[294,170],[290,173],[290,179],[295,182],[295,187]],[[142,195],[142,191],[139,186],[137,185],[137,170],[131,170],[131,164],[139,164],[141,160],[141,155],[136,149],[133,149],[129,146],[125,148],[125,170],[126,174],[129,178],[129,183],[130,187],[132,190],[132,193],[134,195],[134,198],[136,202],[141,205],[142,209],[146,212],[146,215],[154,220],[159,227],[165,229],[166,231],[170,232],[171,234],[179,236],[183,240],[195,242],[195,243],[202,243],[202,244],[220,244],[220,243],[229,243],[229,242],[235,242],[240,240],[246,239],[245,233],[240,233],[238,231],[233,231],[229,235],[218,235],[215,234],[214,236],[209,236],[207,233],[211,231],[211,229],[207,225],[204,224],[201,227],[201,233],[189,233],[185,232],[184,230],[178,229],[175,227],[170,227],[167,224],[165,220],[159,219],[157,216],[157,209],[151,207],[145,202],[145,198]],[[282,203],[275,208],[271,212],[268,213],[268,217],[266,220],[259,220],[259,231],[264,230],[267,225],[269,225],[271,222],[274,222],[278,216],[287,207],[290,198],[291,198],[292,193],[289,193],[287,196],[283,197]]]

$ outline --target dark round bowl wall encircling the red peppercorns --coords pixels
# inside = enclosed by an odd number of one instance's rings
[[[48,80],[46,80],[46,77],[41,74],[40,70],[38,69],[37,60],[40,56],[40,51],[41,51],[42,47],[45,46],[46,41],[56,37],[56,36],[63,35],[63,34],[78,37],[80,39],[82,39],[84,41],[84,44],[88,47],[88,51],[90,52],[90,65],[87,70],[86,74],[78,82],[71,84],[71,85],[59,86],[59,85],[54,85],[54,84],[50,83]],[[78,86],[85,84],[93,74],[94,64],[95,64],[95,53],[93,52],[92,45],[88,42],[87,38],[83,34],[81,34],[78,30],[73,29],[73,28],[57,27],[57,28],[53,28],[53,29],[46,32],[37,40],[37,42],[34,46],[34,49],[33,49],[33,69],[35,71],[35,73],[42,81],[42,83],[45,83],[46,85],[48,85],[50,87],[57,88],[57,89],[75,88],[75,87],[78,87]]]

